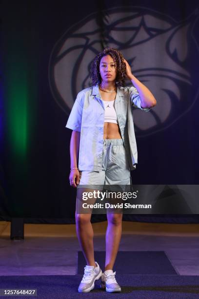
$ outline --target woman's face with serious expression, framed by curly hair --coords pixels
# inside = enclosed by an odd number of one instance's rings
[[[101,81],[110,83],[116,80],[116,63],[110,55],[103,56],[100,60]]]

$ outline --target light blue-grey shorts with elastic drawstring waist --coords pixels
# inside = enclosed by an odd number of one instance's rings
[[[102,170],[80,171],[78,188],[102,190],[103,185],[131,185],[130,166],[122,139],[103,139]]]

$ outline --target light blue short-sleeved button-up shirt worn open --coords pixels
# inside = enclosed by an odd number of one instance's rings
[[[142,108],[138,90],[131,87],[117,87],[115,109],[124,147],[127,151],[131,170],[136,169],[138,152],[133,123],[133,109]],[[99,85],[81,90],[69,115],[66,128],[80,132],[80,171],[100,171],[102,169],[102,149],[105,108]]]

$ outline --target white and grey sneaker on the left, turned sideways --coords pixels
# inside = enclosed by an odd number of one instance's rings
[[[101,269],[97,262],[96,267],[86,265],[84,267],[84,275],[80,282],[78,292],[79,293],[88,293],[95,287],[95,280],[100,279]]]

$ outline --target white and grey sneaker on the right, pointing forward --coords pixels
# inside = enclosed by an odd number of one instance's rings
[[[108,293],[121,292],[121,288],[115,278],[116,272],[113,270],[106,270],[101,275],[101,288]]]

